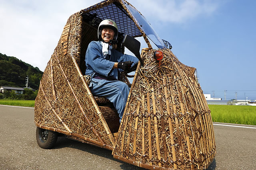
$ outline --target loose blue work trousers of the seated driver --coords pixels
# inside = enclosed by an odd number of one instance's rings
[[[114,104],[121,122],[130,90],[128,85],[118,80],[92,78],[90,90],[94,96],[105,97]]]

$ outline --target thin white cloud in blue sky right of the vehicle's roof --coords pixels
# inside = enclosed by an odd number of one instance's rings
[[[161,22],[184,23],[212,14],[218,4],[218,0],[146,0],[138,1],[137,9],[144,16]]]

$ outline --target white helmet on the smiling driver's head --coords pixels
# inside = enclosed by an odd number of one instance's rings
[[[98,40],[101,40],[101,32],[103,28],[109,27],[111,29],[114,30],[115,35],[112,41],[116,41],[117,40],[117,36],[118,36],[118,27],[116,25],[116,23],[113,20],[103,20],[101,21],[99,27],[98,27]]]

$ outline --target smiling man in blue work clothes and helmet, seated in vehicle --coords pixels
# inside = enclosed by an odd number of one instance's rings
[[[138,59],[112,49],[117,43],[118,27],[112,20],[103,20],[98,27],[98,40],[88,45],[85,62],[86,75],[91,77],[90,90],[94,96],[110,100],[116,108],[120,121],[129,94],[129,87],[118,80],[119,71],[128,71]]]

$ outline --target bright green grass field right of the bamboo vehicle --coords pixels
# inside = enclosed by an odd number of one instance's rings
[[[212,121],[256,125],[256,106],[208,105]]]

